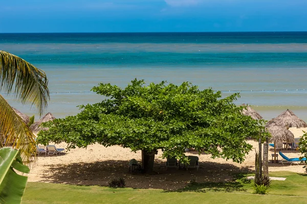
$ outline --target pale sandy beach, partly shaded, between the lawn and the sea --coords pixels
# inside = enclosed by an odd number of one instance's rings
[[[302,136],[302,130],[291,128],[295,137]],[[258,150],[258,143],[249,140]],[[65,143],[57,144],[59,148],[66,147]],[[293,171],[304,173],[303,165],[272,164],[271,155],[273,148],[269,148],[269,171]],[[155,158],[155,174],[144,175],[128,171],[128,162],[136,159],[141,162],[141,152],[131,152],[129,148],[121,146],[104,147],[99,144],[89,145],[86,149],[76,148],[60,156],[39,156],[37,164],[29,174],[29,182],[52,182],[76,185],[101,185],[114,177],[124,177],[126,187],[133,188],[159,188],[178,189],[186,186],[191,181],[196,182],[224,182],[234,179],[233,173],[252,171],[254,169],[255,150],[246,156],[242,164],[226,161],[222,158],[212,159],[210,155],[198,155],[198,152],[189,151],[186,155],[199,157],[200,168],[166,170],[166,159],[162,160],[162,151],[159,150]],[[282,150],[289,158],[301,156],[299,151]],[[279,156],[280,157],[280,156]],[[281,158],[278,158],[281,160]]]

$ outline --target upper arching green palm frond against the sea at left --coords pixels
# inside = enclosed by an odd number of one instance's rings
[[[29,62],[0,50],[0,91],[11,93],[23,104],[31,104],[41,115],[50,99],[44,71]]]

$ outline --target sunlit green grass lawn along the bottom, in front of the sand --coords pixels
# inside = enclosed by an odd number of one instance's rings
[[[267,195],[251,194],[252,183],[243,174],[234,182],[194,183],[177,191],[29,182],[23,203],[307,203],[307,175],[273,172],[271,176],[287,180],[272,181]]]

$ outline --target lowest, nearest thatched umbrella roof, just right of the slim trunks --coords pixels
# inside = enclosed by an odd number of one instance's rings
[[[266,129],[272,135],[272,137],[270,138],[270,142],[278,143],[294,141],[293,133],[285,127],[277,125],[275,122],[271,122],[269,125],[267,124]]]

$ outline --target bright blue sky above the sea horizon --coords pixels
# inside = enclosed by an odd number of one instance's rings
[[[0,33],[307,31],[307,0],[0,0]]]

